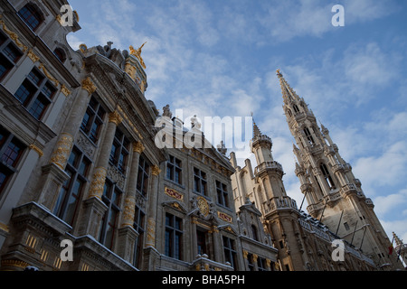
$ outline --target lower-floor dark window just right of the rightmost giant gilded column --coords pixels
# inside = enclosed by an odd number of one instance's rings
[[[182,258],[182,230],[183,220],[166,213],[166,256],[181,260]]]

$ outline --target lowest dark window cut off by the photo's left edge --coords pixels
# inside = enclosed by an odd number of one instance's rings
[[[25,148],[22,142],[0,126],[0,196],[7,181],[16,172]]]

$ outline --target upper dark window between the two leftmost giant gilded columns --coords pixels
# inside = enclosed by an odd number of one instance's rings
[[[101,107],[95,97],[90,98],[85,116],[82,119],[80,129],[85,135],[88,135],[93,143],[98,143],[100,128],[103,126],[103,117],[106,111]]]

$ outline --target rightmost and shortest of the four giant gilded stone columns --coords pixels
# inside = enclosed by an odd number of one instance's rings
[[[151,186],[148,197],[147,239],[145,247],[156,248],[156,200],[158,188],[158,175],[160,168],[155,165],[151,168]]]

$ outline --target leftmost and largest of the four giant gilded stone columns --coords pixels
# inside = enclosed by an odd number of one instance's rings
[[[66,163],[70,157],[75,136],[78,134],[80,124],[90,101],[90,95],[95,92],[96,87],[88,77],[82,80],[80,92],[71,107],[71,115],[68,117],[67,125],[59,135],[48,165],[43,166],[43,175],[40,182],[41,191],[39,202],[46,208],[52,210],[58,198],[62,183],[68,180],[64,172]]]

